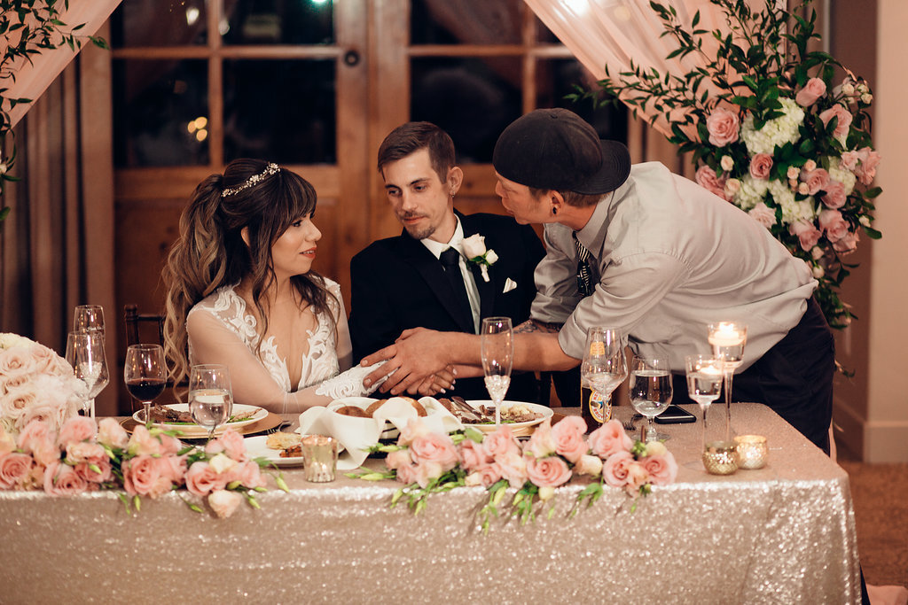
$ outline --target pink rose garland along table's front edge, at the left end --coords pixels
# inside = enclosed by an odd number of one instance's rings
[[[114,418],[95,423],[77,415],[59,430],[36,418],[16,435],[0,427],[0,490],[43,489],[68,496],[119,489],[129,514],[141,509],[142,497],[155,499],[183,488],[221,518],[231,516],[243,498],[259,508],[255,493],[265,491],[260,468],[265,464],[250,460],[242,436],[232,429],[199,449],[173,432],[141,424],[130,435]],[[287,490],[281,475],[276,482]]]

